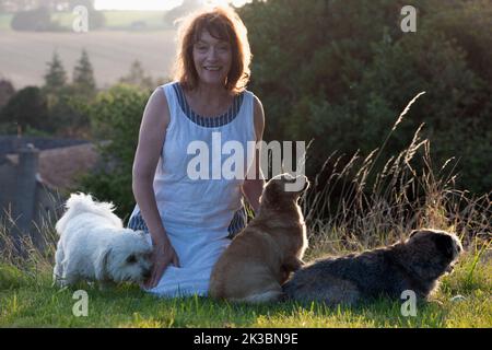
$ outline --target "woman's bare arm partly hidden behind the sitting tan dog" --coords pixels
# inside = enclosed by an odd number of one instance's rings
[[[258,97],[255,96],[255,131],[256,131],[256,142],[260,142],[263,138],[265,130],[265,112],[261,102]],[[263,174],[261,172],[261,148],[258,147],[255,152],[255,175],[254,178],[246,178],[243,184],[243,194],[248,200],[249,205],[255,210],[255,213],[258,212],[259,208],[259,197],[261,196],[261,191],[263,189],[265,179]]]

